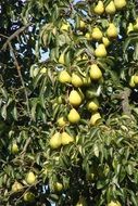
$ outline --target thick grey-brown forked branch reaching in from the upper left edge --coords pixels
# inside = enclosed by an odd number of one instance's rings
[[[7,37],[2,34],[0,34],[1,37],[8,38],[8,40],[5,41],[5,43],[3,44],[1,50],[7,50],[7,47],[9,46],[9,43],[15,38],[17,37],[21,33],[23,33],[28,26],[30,26],[32,23],[26,24],[25,26],[18,28],[15,33],[13,33],[10,37]]]

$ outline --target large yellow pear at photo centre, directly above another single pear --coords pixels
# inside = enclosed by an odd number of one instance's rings
[[[81,96],[76,90],[72,90],[68,96],[70,104],[79,106],[81,104]]]

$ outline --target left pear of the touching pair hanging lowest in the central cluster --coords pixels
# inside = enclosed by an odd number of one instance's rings
[[[61,133],[60,132],[55,132],[50,138],[49,145],[51,146],[51,149],[59,149],[61,146]]]

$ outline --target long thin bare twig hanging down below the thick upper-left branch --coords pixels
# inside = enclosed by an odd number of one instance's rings
[[[22,77],[21,66],[20,66],[20,64],[18,64],[18,62],[17,62],[17,59],[16,59],[16,56],[15,56],[15,53],[14,53],[14,50],[13,50],[13,47],[12,47],[11,42],[8,41],[8,44],[9,44],[9,48],[10,48],[10,50],[11,50],[11,54],[12,54],[12,57],[13,57],[13,60],[14,60],[14,65],[15,65],[15,67],[16,67],[16,69],[17,69],[17,74],[18,74],[18,77],[20,77],[20,79],[21,79],[21,82],[22,82],[22,86],[23,86],[23,89],[24,89],[25,99],[26,99],[26,106],[27,106],[27,113],[28,113],[28,115],[29,115],[30,113],[29,113],[28,94],[27,94],[27,90],[26,90],[26,87],[25,87],[25,83],[24,83],[24,79],[23,79],[23,77]]]

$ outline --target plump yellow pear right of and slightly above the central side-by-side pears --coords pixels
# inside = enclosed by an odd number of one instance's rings
[[[92,80],[98,80],[102,77],[102,72],[97,64],[90,66],[89,74]]]

